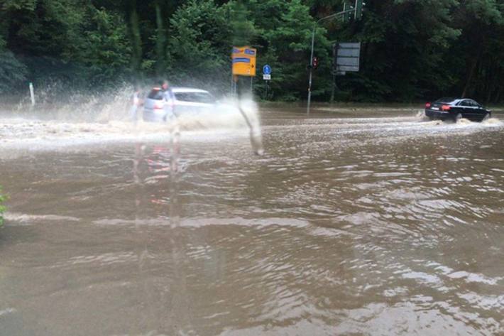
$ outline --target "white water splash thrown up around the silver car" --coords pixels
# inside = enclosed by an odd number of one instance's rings
[[[0,116],[0,143],[4,148],[54,149],[90,143],[170,141],[175,119],[168,123],[133,122],[129,100],[132,88],[103,94],[70,94],[55,102],[53,88],[40,94],[35,109],[22,101]],[[39,90],[40,91],[40,90]],[[263,153],[258,107],[252,99],[224,99],[212,112],[184,114],[176,119],[181,139],[204,136],[249,136],[254,153]],[[187,139],[187,138],[186,138]]]

